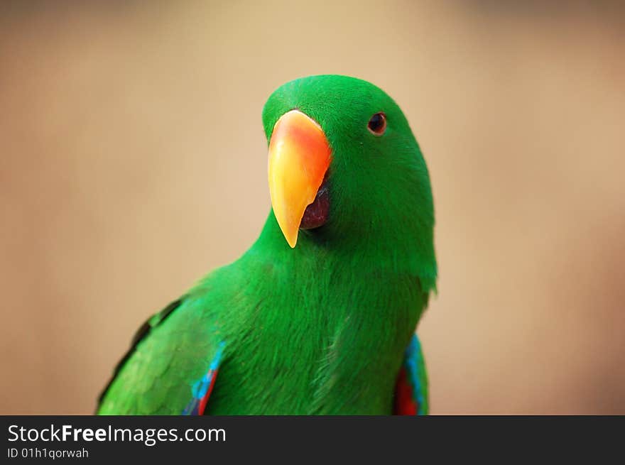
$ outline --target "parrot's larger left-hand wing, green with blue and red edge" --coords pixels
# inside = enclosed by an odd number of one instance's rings
[[[202,415],[224,343],[212,315],[182,297],[148,319],[99,398],[99,415]]]

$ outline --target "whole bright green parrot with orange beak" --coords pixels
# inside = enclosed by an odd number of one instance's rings
[[[263,108],[259,239],[138,330],[100,415],[416,415],[415,327],[435,291],[425,160],[399,106],[354,77],[283,84]]]

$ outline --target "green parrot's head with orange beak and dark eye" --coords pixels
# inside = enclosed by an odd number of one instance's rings
[[[304,77],[271,94],[263,126],[271,206],[291,248],[410,244],[435,279],[428,169],[391,97],[354,77]]]

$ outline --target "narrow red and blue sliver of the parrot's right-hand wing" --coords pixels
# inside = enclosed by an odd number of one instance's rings
[[[416,334],[406,348],[397,378],[395,415],[428,415],[428,373]]]

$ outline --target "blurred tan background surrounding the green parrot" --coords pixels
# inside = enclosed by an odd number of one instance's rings
[[[518,3],[3,2],[0,413],[93,411],[256,239],[268,95],[339,73],[430,167],[432,412],[625,414],[624,9]]]

